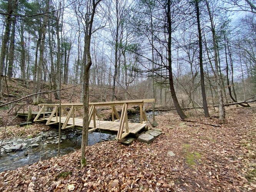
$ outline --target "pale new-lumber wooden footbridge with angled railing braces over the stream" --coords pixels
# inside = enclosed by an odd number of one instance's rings
[[[89,103],[89,132],[98,130],[116,132],[119,140],[130,133],[137,134],[141,129],[147,127],[144,103],[152,102],[155,102],[155,99]],[[140,123],[128,122],[128,105],[140,106]],[[47,121],[47,125],[61,123],[62,129],[83,127],[83,103],[63,103],[61,106],[59,104],[39,104],[39,106],[41,106],[41,109],[38,111],[34,122]],[[100,117],[96,108],[100,106],[111,107],[112,121],[99,120]],[[119,116],[116,106],[123,106],[121,116]],[[53,108],[52,113],[50,116],[45,116],[48,108]],[[43,114],[43,117],[39,118],[42,116],[41,114]],[[58,115],[60,115],[61,120],[59,120]]]

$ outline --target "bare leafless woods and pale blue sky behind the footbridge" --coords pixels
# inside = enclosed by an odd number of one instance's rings
[[[5,79],[33,81],[33,93],[42,82],[51,90],[85,83],[102,89],[101,101],[155,97],[182,119],[182,108],[203,107],[208,117],[207,107],[218,104],[224,120],[224,104],[256,94],[255,6],[254,0],[1,0],[0,99]],[[83,86],[81,101],[85,94]]]

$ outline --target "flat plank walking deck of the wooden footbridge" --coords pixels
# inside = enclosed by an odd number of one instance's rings
[[[45,120],[48,120],[49,118],[45,118]],[[74,118],[75,120],[75,127],[83,127],[83,119],[81,118]],[[61,123],[66,121],[66,117],[62,117],[61,118]],[[59,122],[59,117],[56,118],[53,117],[51,119],[51,122]],[[105,130],[105,131],[116,131],[118,132],[119,129],[119,121],[100,121],[100,120],[96,120],[96,129],[101,129],[101,130]],[[67,125],[73,125],[73,118],[70,118],[68,121]],[[128,126],[129,126],[129,133],[135,134],[136,132],[139,132],[141,129],[143,129],[144,127],[147,126],[147,124],[144,123],[134,123],[134,122],[128,122]],[[94,131],[96,130],[94,128],[93,122],[90,122],[89,125],[89,131]],[[123,131],[125,132],[125,130]]]

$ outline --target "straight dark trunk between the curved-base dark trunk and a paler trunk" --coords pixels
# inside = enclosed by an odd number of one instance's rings
[[[203,98],[203,109],[204,109],[204,116],[206,118],[210,117],[208,107],[207,107],[207,100],[206,100],[206,93],[205,93],[205,86],[204,86],[204,69],[203,69],[203,45],[202,45],[202,35],[201,35],[201,26],[200,26],[200,13],[199,13],[199,0],[195,1],[196,4],[196,18],[197,18],[197,28],[198,28],[198,40],[199,40],[199,66],[200,66],[200,77],[201,77],[201,90],[202,90],[202,98]]]

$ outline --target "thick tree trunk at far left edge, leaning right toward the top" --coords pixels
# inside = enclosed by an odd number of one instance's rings
[[[3,35],[1,54],[0,54],[0,99],[3,98],[3,71],[5,68],[5,57],[7,52],[7,43],[10,36],[10,26],[11,26],[11,14],[16,9],[19,0],[8,0],[8,15],[5,19],[5,32]]]

